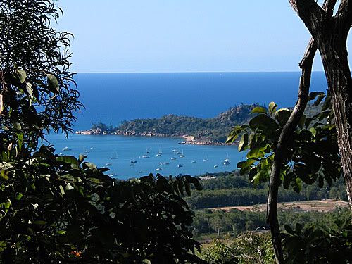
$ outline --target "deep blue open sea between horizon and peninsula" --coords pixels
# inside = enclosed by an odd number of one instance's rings
[[[107,73],[77,74],[86,106],[76,130],[92,122],[158,118],[170,113],[213,118],[240,103],[280,107],[296,102],[300,73]],[[311,90],[325,91],[324,73],[313,73]]]

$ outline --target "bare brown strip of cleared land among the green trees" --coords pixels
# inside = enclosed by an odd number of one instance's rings
[[[297,210],[297,211],[318,211],[318,212],[330,212],[337,208],[348,207],[346,201],[335,201],[335,200],[322,200],[322,201],[294,201],[287,203],[277,203],[277,208],[282,210]],[[227,206],[211,208],[211,210],[253,210],[263,212],[266,210],[266,204],[257,204],[255,206]]]

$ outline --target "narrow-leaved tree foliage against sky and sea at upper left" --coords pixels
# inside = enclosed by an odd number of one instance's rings
[[[50,27],[62,11],[51,0],[0,1],[0,114],[6,146],[36,147],[44,131],[72,131],[82,104],[72,89],[70,37]]]

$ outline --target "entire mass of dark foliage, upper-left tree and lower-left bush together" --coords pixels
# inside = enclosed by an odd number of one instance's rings
[[[118,182],[37,146],[82,107],[71,35],[50,26],[60,14],[54,0],[0,1],[0,262],[201,263],[181,197],[201,189],[194,177]]]

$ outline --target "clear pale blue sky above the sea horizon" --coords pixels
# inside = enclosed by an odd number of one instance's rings
[[[65,15],[56,27],[75,35],[77,73],[296,71],[310,38],[283,0],[57,4]]]

